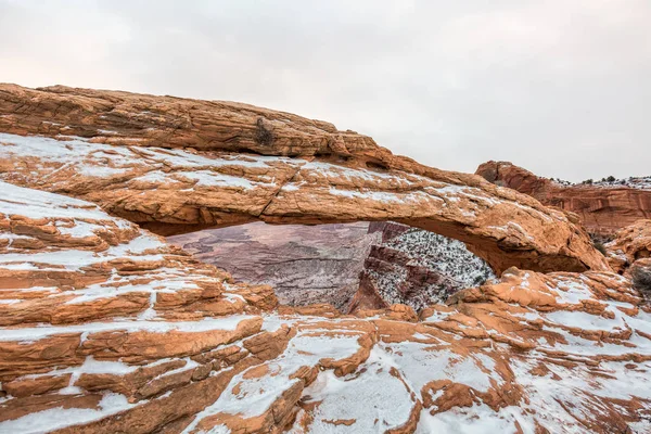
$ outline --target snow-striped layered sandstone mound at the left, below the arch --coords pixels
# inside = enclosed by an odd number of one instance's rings
[[[190,357],[257,333],[275,304],[94,204],[0,190],[0,432],[140,408],[209,372]]]

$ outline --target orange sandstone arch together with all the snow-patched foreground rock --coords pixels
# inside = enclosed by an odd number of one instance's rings
[[[294,115],[16,86],[0,177],[2,433],[651,431],[648,302],[527,195]],[[418,315],[342,315],[143,228],[382,219],[465,241],[500,277]],[[644,228],[610,252],[647,260]]]

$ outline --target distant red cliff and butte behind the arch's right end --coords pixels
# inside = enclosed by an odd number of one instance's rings
[[[651,218],[651,179],[559,183],[508,162],[482,164],[476,174],[498,186],[528,194],[546,205],[576,213],[588,231],[612,235],[639,219]]]

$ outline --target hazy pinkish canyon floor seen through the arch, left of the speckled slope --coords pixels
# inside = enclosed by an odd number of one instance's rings
[[[328,303],[345,310],[380,233],[368,222],[266,225],[208,229],[168,238],[195,258],[228,271],[237,281],[269,284],[280,303]]]

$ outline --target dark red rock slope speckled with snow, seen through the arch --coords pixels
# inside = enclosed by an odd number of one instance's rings
[[[352,311],[394,304],[420,311],[495,278],[490,267],[457,240],[395,222],[371,224],[369,232],[381,233],[382,240],[365,261]]]

